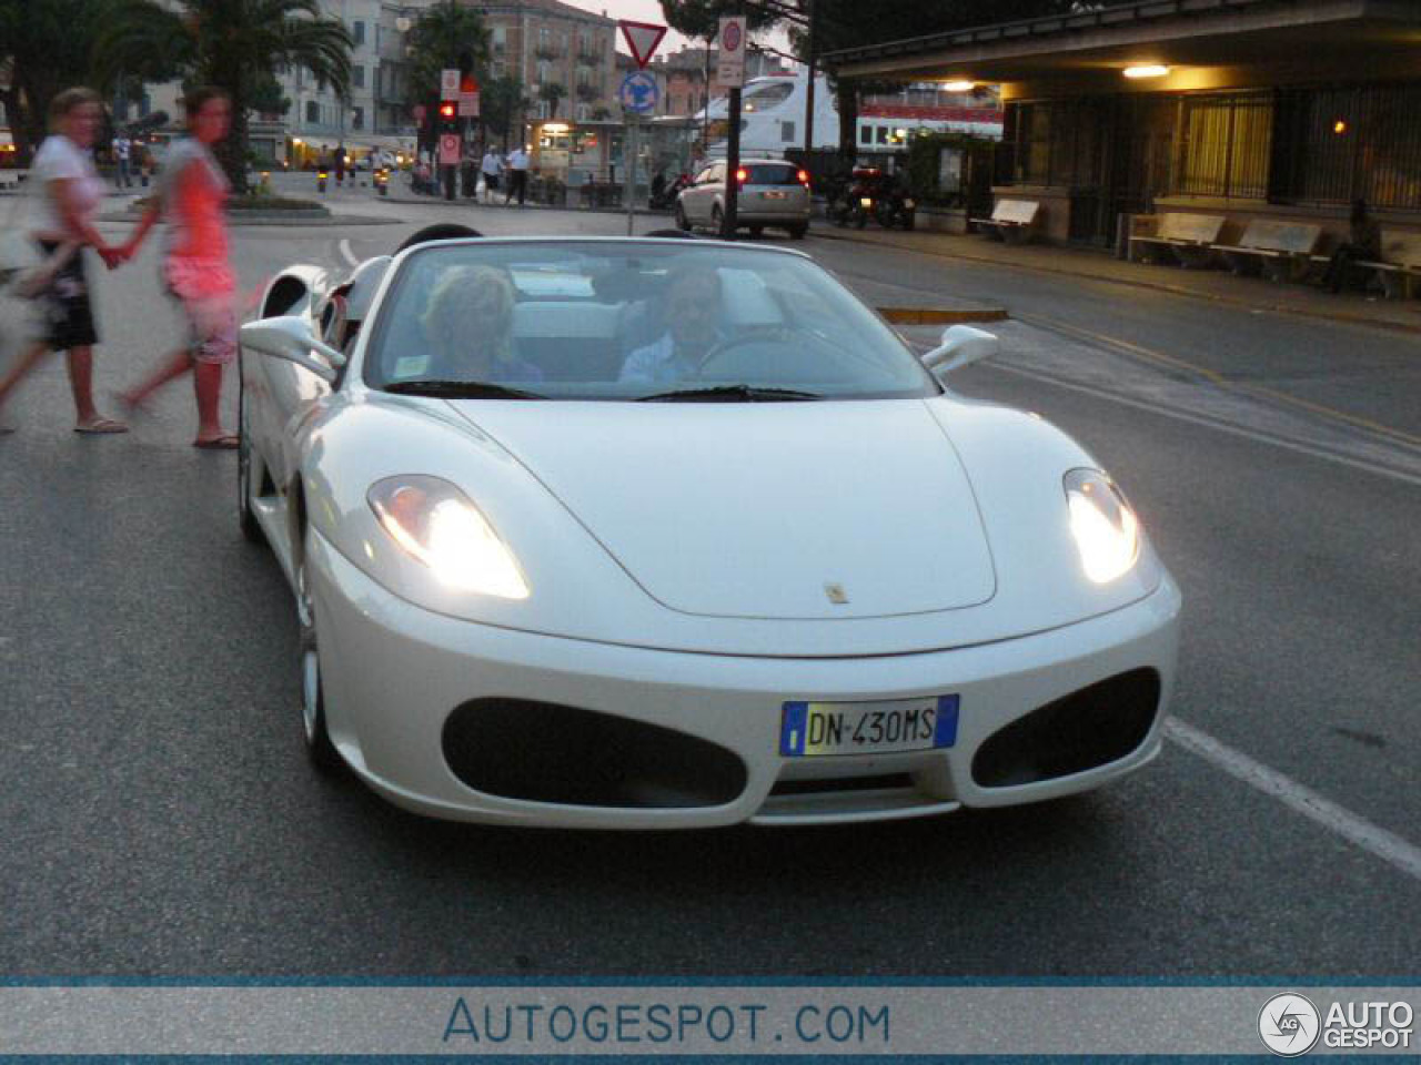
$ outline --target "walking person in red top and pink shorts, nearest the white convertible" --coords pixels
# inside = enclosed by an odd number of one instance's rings
[[[232,126],[232,102],[219,88],[198,88],[183,101],[188,136],[168,149],[168,162],[153,203],[124,244],[131,258],[161,216],[169,226],[163,281],[183,308],[189,342],[153,368],[142,382],[122,393],[138,409],[159,388],[188,371],[198,398],[198,437],[193,447],[232,449],[239,440],[222,427],[222,373],[237,356],[237,280],[229,263],[223,204],[227,178],[212,146]]]

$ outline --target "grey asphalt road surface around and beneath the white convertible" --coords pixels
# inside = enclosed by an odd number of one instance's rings
[[[331,200],[392,223],[236,230],[242,280],[445,217],[625,231]],[[81,437],[54,361],[0,439],[0,973],[1417,978],[1421,338],[799,247],[871,301],[1009,308],[959,388],[1081,439],[1184,588],[1154,765],[1042,808],[837,829],[409,816],[308,771],[290,594],[237,534],[234,457],[189,446],[188,385],[128,436]],[[101,278],[101,395],[180,337],[155,256]],[[6,354],[16,325],[4,308]]]

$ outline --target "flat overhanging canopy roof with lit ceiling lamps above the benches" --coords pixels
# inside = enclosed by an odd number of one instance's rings
[[[1013,82],[1118,78],[1140,64],[1290,65],[1303,78],[1316,77],[1320,60],[1331,70],[1350,65],[1374,77],[1394,67],[1414,77],[1418,57],[1417,0],[1140,0],[847,48],[823,62],[851,78]]]

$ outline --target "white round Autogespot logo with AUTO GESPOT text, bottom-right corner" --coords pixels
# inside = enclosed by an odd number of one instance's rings
[[[1297,1058],[1322,1044],[1327,1049],[1408,1049],[1415,1011],[1405,1001],[1333,1001],[1326,1012],[1292,991],[1263,1003],[1258,1034],[1282,1058]]]

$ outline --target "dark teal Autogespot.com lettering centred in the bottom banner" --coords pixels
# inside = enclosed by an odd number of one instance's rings
[[[747,1051],[766,1044],[885,1048],[888,1005],[800,1003],[608,1001],[510,1003],[459,995],[445,1024],[449,1047],[590,1045],[668,1048],[712,1044]]]

